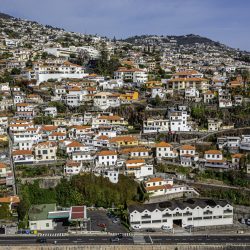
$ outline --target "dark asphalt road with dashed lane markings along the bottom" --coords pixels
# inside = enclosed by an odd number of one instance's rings
[[[119,242],[110,242],[114,236],[64,236],[64,237],[46,237],[47,243],[37,243],[35,236],[12,236],[0,237],[0,245],[45,245],[53,244],[57,241],[58,245],[107,245],[107,244],[250,244],[249,235],[210,235],[208,237],[202,235],[197,236],[125,236]],[[137,238],[136,238],[137,237]],[[136,240],[138,239],[138,240]]]

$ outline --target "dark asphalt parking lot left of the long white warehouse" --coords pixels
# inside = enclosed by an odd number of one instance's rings
[[[113,223],[113,218],[107,216],[106,210],[88,210],[88,217],[91,222],[88,222],[88,231],[104,231],[105,228],[102,227],[106,225],[106,231],[111,233],[126,233],[126,228],[121,224],[121,222]],[[98,226],[103,224],[102,226]]]

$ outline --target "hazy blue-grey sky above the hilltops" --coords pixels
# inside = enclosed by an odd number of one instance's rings
[[[250,51],[250,0],[0,0],[0,12],[87,34],[197,34]]]

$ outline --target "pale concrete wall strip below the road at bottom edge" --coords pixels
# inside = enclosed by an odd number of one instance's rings
[[[75,246],[0,246],[0,250],[249,250],[250,245],[75,245]]]

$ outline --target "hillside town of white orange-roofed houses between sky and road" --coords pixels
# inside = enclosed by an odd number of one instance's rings
[[[249,232],[249,197],[248,52],[0,17],[0,233]]]

